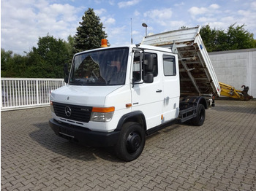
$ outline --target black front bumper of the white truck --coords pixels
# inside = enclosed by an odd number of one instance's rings
[[[64,122],[57,122],[54,119],[49,120],[50,128],[65,139],[72,139],[78,141],[80,144],[85,144],[91,147],[109,147],[113,146],[118,141],[120,131],[113,131],[110,133],[98,132],[81,128],[75,125],[69,125]]]

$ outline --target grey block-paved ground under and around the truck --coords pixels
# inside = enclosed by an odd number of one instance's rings
[[[56,136],[49,108],[1,112],[1,190],[256,190],[256,101],[148,137],[138,160]]]

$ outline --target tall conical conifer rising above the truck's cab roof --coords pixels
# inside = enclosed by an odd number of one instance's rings
[[[101,39],[108,37],[103,28],[105,27],[100,22],[99,16],[95,15],[94,9],[89,8],[84,13],[75,34],[75,52],[100,47]]]

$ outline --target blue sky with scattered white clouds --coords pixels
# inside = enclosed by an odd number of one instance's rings
[[[256,39],[255,0],[1,0],[1,48],[23,54],[47,34],[67,41],[88,8],[99,15],[111,46],[130,44],[131,18],[133,44],[145,35],[142,23],[154,34],[181,26],[245,24]]]

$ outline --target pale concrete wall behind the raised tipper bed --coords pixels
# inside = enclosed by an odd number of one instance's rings
[[[256,98],[256,49],[210,52],[211,63],[219,82],[243,90],[249,86],[249,95]]]

